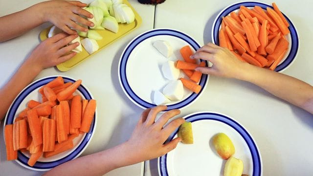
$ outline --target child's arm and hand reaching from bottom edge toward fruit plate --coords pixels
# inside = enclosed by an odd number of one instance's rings
[[[163,143],[184,122],[184,119],[177,118],[162,128],[170,118],[180,113],[179,110],[169,110],[155,122],[156,114],[162,110],[166,110],[166,106],[144,110],[131,138],[125,143],[68,161],[48,171],[45,175],[84,176],[88,173],[89,176],[102,176],[113,169],[153,159],[170,152],[176,148],[180,138]]]

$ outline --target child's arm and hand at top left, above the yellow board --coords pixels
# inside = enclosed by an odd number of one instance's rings
[[[81,8],[86,5],[79,1],[51,0],[0,17],[0,42],[20,36],[44,22],[51,22],[68,34],[76,33],[70,28],[86,31],[87,28],[76,23],[93,26],[91,22],[79,16],[89,18],[92,16],[88,11]]]

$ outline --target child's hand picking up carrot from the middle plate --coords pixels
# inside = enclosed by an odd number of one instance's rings
[[[197,67],[196,70],[205,74],[237,78],[241,74],[244,62],[238,60],[227,48],[215,44],[202,46],[191,56],[192,59],[203,59],[211,62],[211,67]]]

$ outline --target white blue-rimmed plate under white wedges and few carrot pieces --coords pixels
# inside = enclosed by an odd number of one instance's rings
[[[166,41],[172,46],[174,53],[170,58],[165,58],[156,50],[153,46],[156,40]],[[162,92],[162,88],[170,82],[164,78],[161,65],[168,60],[183,60],[179,49],[185,45],[189,45],[194,52],[200,48],[193,38],[183,32],[153,29],[138,35],[126,46],[119,61],[118,78],[124,93],[135,105],[142,109],[156,106],[152,100],[152,92]],[[208,66],[206,61],[205,63]],[[179,77],[187,78],[182,71]],[[196,94],[184,88],[182,100],[165,104],[167,110],[186,108],[195,102],[205,89],[208,79],[209,75],[202,74],[199,82],[201,91]]]

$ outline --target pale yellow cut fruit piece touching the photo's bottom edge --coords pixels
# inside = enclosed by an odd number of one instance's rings
[[[242,160],[230,156],[224,167],[224,176],[242,176],[244,171],[244,163]]]

